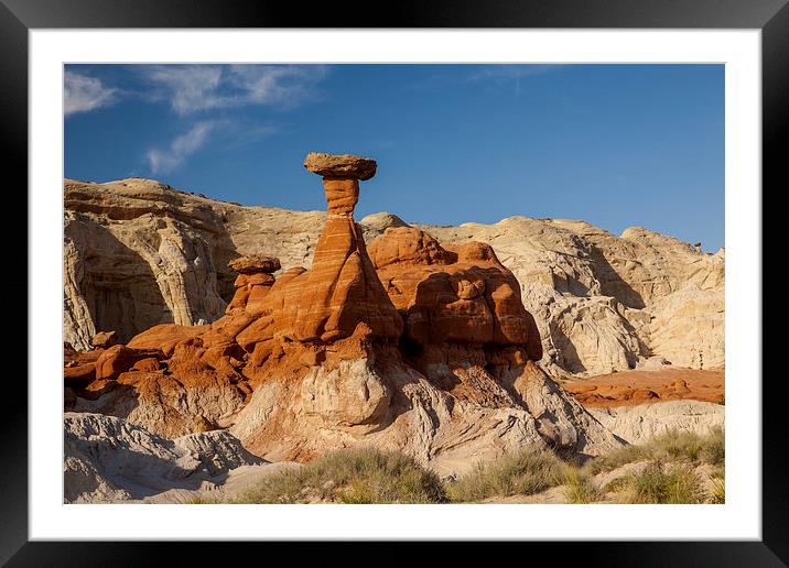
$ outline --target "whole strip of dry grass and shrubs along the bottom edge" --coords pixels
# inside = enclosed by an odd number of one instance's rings
[[[688,503],[725,502],[724,433],[668,432],[585,463],[525,449],[451,480],[411,457],[374,448],[326,454],[206,503]]]

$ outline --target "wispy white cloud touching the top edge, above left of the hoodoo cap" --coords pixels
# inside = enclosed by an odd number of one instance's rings
[[[156,65],[143,68],[153,92],[179,114],[249,105],[293,107],[314,96],[322,65]]]

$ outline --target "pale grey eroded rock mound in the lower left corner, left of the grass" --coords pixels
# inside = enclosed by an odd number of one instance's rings
[[[234,469],[262,465],[226,430],[169,440],[114,416],[64,416],[64,502],[142,499],[210,488]]]

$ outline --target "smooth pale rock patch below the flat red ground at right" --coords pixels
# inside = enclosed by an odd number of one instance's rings
[[[636,406],[591,408],[608,430],[630,444],[641,444],[670,430],[707,434],[723,428],[726,407],[701,401],[669,401]]]

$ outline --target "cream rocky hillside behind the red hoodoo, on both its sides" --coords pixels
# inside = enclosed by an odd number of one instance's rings
[[[126,343],[158,324],[219,319],[238,276],[230,260],[275,256],[277,276],[310,269],[326,220],[325,211],[242,207],[141,178],[66,179],[64,199],[64,330],[78,350],[101,330]],[[408,227],[385,212],[359,226],[368,243]],[[705,254],[641,228],[617,237],[558,219],[414,229],[447,249],[493,247],[517,277],[552,375],[724,364],[723,251]],[[380,276],[385,266],[377,270]]]

